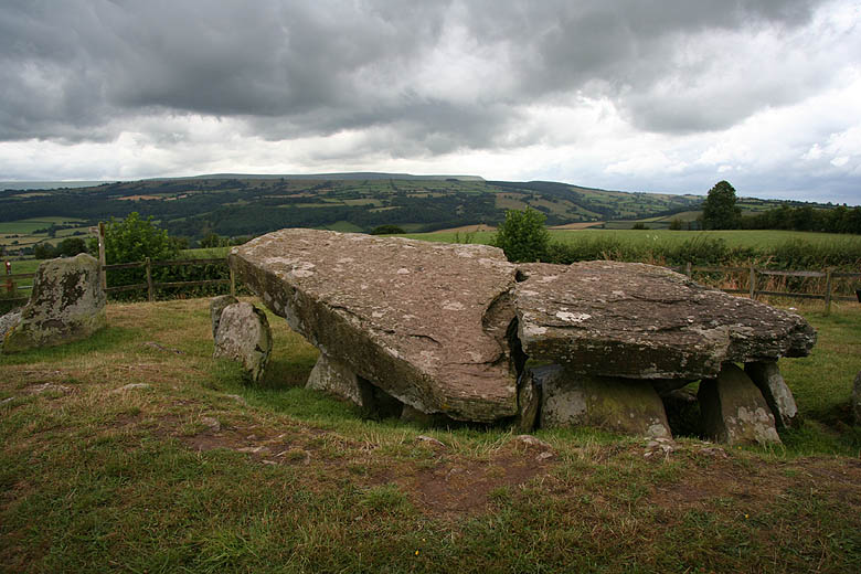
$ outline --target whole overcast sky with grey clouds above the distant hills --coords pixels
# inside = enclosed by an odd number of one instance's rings
[[[0,180],[395,171],[861,203],[861,1],[2,0]]]

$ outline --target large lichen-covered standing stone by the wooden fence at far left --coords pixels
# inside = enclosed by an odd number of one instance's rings
[[[86,339],[106,325],[98,262],[86,254],[42,263],[21,320],[7,332],[3,352]]]

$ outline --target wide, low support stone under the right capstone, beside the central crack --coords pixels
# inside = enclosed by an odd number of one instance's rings
[[[648,383],[570,370],[546,372],[541,385],[541,427],[578,426],[648,437],[672,436],[663,403]]]

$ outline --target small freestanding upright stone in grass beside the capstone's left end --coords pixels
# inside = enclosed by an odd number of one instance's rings
[[[272,352],[272,331],[266,313],[249,302],[228,305],[221,313],[213,357],[240,361],[252,381],[263,378]]]

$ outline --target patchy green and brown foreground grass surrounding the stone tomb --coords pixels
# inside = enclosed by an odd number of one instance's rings
[[[785,447],[646,457],[598,431],[362,419],[301,387],[317,351],[279,318],[249,387],[212,359],[208,300],[109,305],[88,341],[0,355],[0,570],[854,573],[861,311],[806,315]]]

